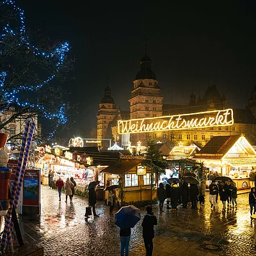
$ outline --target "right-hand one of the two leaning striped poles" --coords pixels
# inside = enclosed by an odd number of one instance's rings
[[[24,173],[25,173],[27,162],[28,162],[29,149],[30,149],[30,146],[31,146],[31,141],[32,141],[32,138],[33,138],[34,129],[35,129],[35,125],[33,123],[31,123],[31,127],[29,129],[29,134],[28,134],[28,140],[27,140],[27,144],[26,144],[26,149],[25,149],[25,154],[24,154],[24,159],[23,159],[23,164],[22,164],[22,168],[20,170],[19,184],[18,184],[18,188],[17,188],[17,191],[16,191],[15,200],[14,200],[15,209],[17,209],[17,205],[18,205],[18,202],[19,202],[20,191],[22,189]],[[12,219],[11,219],[10,220],[10,227],[9,227],[10,228],[10,234],[12,233],[12,227],[13,227],[13,223],[12,223]],[[8,236],[8,233],[7,233],[8,244],[12,245],[12,236],[11,235]]]

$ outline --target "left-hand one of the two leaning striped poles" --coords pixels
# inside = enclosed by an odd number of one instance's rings
[[[25,129],[24,129],[24,135],[23,135],[23,138],[22,138],[21,147],[20,147],[20,154],[19,154],[17,169],[16,169],[16,173],[15,173],[15,178],[13,180],[10,206],[9,206],[9,209],[8,209],[8,212],[7,212],[6,216],[4,217],[5,224],[4,224],[4,231],[3,231],[2,243],[1,243],[1,248],[2,249],[4,248],[4,244],[6,243],[7,236],[10,236],[10,219],[11,219],[11,216],[12,216],[13,202],[14,202],[15,196],[16,196],[17,184],[19,182],[20,168],[22,166],[22,159],[23,159],[23,156],[24,156],[24,148],[25,148],[26,141],[27,141],[27,138],[28,138],[29,123],[30,123],[29,120],[27,120],[26,125],[25,125]]]

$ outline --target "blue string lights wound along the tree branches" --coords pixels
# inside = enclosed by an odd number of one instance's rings
[[[24,47],[24,51],[28,51],[29,54],[35,54],[35,56],[38,56],[38,58],[54,58],[56,60],[54,73],[51,74],[51,76],[47,77],[42,81],[40,84],[33,84],[31,86],[27,86],[25,84],[18,84],[13,88],[12,86],[6,86],[6,77],[8,77],[8,72],[1,71],[0,72],[0,92],[3,102],[6,102],[6,109],[8,106],[11,106],[12,104],[17,104],[17,106],[20,106],[22,108],[29,107],[31,109],[38,109],[42,113],[42,116],[44,118],[47,118],[49,120],[57,120],[58,124],[65,124],[67,122],[67,117],[65,116],[65,104],[63,104],[58,113],[51,113],[45,109],[45,106],[42,104],[33,104],[32,102],[29,102],[28,100],[22,100],[21,99],[21,93],[24,94],[24,92],[35,92],[36,90],[42,88],[45,84],[48,84],[54,77],[56,77],[56,72],[60,71],[61,66],[63,65],[65,61],[65,56],[67,52],[69,51],[69,45],[67,42],[58,45],[56,49],[52,52],[42,52],[40,51],[35,45],[32,45],[29,42],[29,36],[26,34],[26,26],[25,26],[25,16],[24,11],[21,10],[18,6],[15,5],[15,1],[12,0],[6,0],[3,2],[3,4],[7,4],[10,9],[17,12],[18,18],[20,21],[19,28],[11,28],[10,24],[6,24],[3,27],[3,33],[0,34],[0,44],[4,44],[4,40],[12,40],[15,36],[15,42],[16,46],[22,46]],[[0,51],[0,55],[6,54],[3,50]],[[11,76],[11,74],[10,74]],[[4,111],[3,109],[1,109]],[[58,126],[58,125],[57,125]],[[52,137],[54,132],[50,134]]]

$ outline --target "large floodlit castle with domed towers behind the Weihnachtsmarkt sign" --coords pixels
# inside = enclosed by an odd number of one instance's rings
[[[221,110],[228,108],[226,96],[220,95],[215,84],[207,86],[201,98],[192,92],[187,105],[163,104],[163,95],[158,86],[156,74],[151,69],[152,61],[147,56],[141,58],[140,71],[133,81],[131,98],[129,98],[130,111],[116,109],[110,89],[105,90],[104,98],[99,104],[99,114],[97,115],[98,140],[102,138],[113,138],[120,147],[127,148],[129,143],[137,145],[147,144],[147,138],[166,143],[169,147],[175,147],[179,143],[190,145],[196,143],[200,147],[211,140],[213,136],[232,136],[244,134],[249,141],[256,138],[256,86],[252,97],[248,100],[248,107],[245,109],[233,109],[234,125],[207,127],[198,129],[186,129],[175,131],[145,132],[136,134],[118,134],[118,120],[129,120],[136,118],[156,118],[161,116],[182,115],[188,113],[199,113],[204,111]],[[251,139],[251,140],[250,140]],[[102,141],[102,147],[103,146]],[[255,144],[255,143],[252,143]]]

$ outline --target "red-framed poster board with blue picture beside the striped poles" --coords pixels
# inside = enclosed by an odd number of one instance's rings
[[[40,205],[40,170],[26,169],[23,182],[23,206]]]

